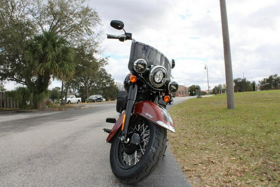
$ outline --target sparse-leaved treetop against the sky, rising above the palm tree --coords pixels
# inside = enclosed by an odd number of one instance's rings
[[[85,6],[86,0],[33,0],[28,12],[40,30],[66,37],[75,46],[88,41],[98,51],[103,34],[101,20],[95,9]]]

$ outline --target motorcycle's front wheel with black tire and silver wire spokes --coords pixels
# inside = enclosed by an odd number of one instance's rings
[[[129,126],[128,138],[140,137],[140,143],[124,144],[120,135],[119,130],[112,140],[111,169],[119,180],[133,184],[145,179],[158,165],[166,148],[166,129],[138,117]]]

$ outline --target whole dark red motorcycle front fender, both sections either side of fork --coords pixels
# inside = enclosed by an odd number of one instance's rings
[[[125,112],[119,117],[109,133],[105,142],[110,142],[114,135],[117,133],[123,123]],[[142,116],[143,118],[152,121],[156,125],[159,125],[167,130],[175,132],[174,124],[170,114],[160,105],[150,101],[141,101],[135,104],[134,112],[135,116]]]

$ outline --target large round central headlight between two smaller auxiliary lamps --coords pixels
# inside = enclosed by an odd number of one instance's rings
[[[167,71],[162,66],[155,66],[151,69],[149,80],[156,88],[161,87],[166,82]]]

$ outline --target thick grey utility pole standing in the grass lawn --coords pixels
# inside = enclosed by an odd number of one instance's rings
[[[225,70],[226,70],[226,100],[227,108],[234,109],[234,86],[233,86],[233,75],[231,65],[231,46],[229,40],[229,31],[226,14],[226,0],[220,0],[221,8],[221,20],[222,20],[222,34],[224,44],[224,59],[225,59]]]

